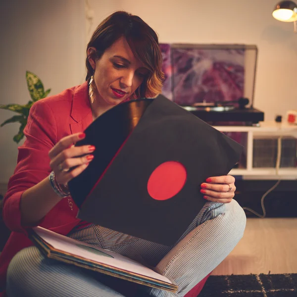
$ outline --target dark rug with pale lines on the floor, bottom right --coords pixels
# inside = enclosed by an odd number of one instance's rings
[[[297,297],[297,273],[211,275],[198,297]]]

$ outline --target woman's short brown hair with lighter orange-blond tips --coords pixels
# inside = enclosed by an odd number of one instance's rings
[[[87,56],[86,80],[88,81],[94,72],[89,58],[99,59],[105,49],[108,49],[122,36],[127,40],[135,57],[148,68],[148,77],[144,79],[143,83],[135,91],[135,97],[155,97],[161,93],[164,80],[162,54],[157,34],[139,16],[125,11],[114,12],[105,18],[93,33],[87,52],[91,47],[97,50]]]

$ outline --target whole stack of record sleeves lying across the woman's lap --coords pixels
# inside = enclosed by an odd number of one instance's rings
[[[49,258],[156,289],[170,292],[176,292],[178,289],[169,278],[118,253],[80,242],[42,227],[33,228],[30,238]]]

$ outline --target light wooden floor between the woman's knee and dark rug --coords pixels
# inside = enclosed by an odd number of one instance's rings
[[[213,275],[297,273],[297,218],[248,218],[243,239]]]

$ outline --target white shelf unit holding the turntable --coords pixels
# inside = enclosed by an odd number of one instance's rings
[[[247,133],[247,168],[232,169],[229,174],[242,175],[244,179],[297,179],[297,168],[280,168],[277,174],[275,168],[253,168],[252,149],[255,136],[279,137],[291,136],[297,138],[297,125],[276,123],[274,121],[260,122],[258,126],[213,126],[221,132]]]

